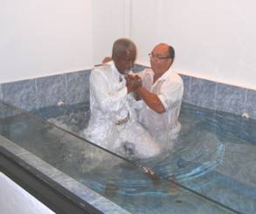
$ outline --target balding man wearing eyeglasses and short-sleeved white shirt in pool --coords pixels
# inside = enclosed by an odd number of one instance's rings
[[[181,128],[178,122],[183,97],[183,80],[171,69],[175,50],[166,43],[159,43],[149,53],[151,68],[138,73],[142,86],[135,94],[142,99],[139,121],[157,137],[168,142]]]

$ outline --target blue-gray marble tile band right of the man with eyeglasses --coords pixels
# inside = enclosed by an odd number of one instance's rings
[[[256,90],[221,84],[197,77],[181,75],[184,83],[183,101],[211,110],[230,112],[256,119]]]

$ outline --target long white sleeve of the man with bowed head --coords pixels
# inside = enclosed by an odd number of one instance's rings
[[[93,70],[90,76],[90,89],[100,110],[103,112],[118,111],[125,104],[127,87],[112,90],[110,80],[102,70]]]

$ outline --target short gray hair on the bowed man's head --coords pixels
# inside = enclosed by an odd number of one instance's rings
[[[117,39],[113,44],[112,58],[126,56],[129,50],[136,50],[136,45],[128,38]]]

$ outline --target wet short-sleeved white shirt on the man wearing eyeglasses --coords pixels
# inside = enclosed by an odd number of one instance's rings
[[[139,110],[139,121],[153,136],[164,142],[169,138],[175,138],[181,128],[178,117],[183,98],[182,78],[171,68],[167,70],[162,77],[159,77],[154,84],[153,70],[142,70],[138,75],[142,77],[143,87],[155,93],[166,110],[159,114],[151,110],[149,106],[142,101],[142,106]]]

